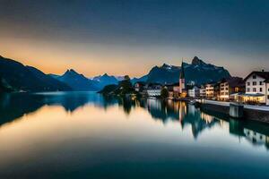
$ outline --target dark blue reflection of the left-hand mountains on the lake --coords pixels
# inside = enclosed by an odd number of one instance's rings
[[[0,125],[34,112],[44,105],[58,105],[64,107],[66,112],[74,112],[75,109],[86,104],[107,108],[117,104],[117,100],[92,95],[91,92],[3,94],[0,96]]]

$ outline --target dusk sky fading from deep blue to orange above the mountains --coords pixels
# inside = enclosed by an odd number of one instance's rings
[[[204,62],[269,71],[267,0],[1,0],[0,55],[46,73],[139,77]]]

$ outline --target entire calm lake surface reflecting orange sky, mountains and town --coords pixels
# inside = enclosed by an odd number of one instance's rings
[[[0,178],[268,178],[269,126],[89,92],[0,97]]]

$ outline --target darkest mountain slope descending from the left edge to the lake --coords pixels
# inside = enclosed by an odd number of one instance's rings
[[[30,66],[0,55],[0,76],[13,90],[54,91],[71,90],[62,82]]]

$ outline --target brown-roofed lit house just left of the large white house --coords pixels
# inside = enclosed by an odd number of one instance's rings
[[[245,82],[239,77],[223,79],[220,84],[220,100],[234,99],[235,94],[245,92]]]

